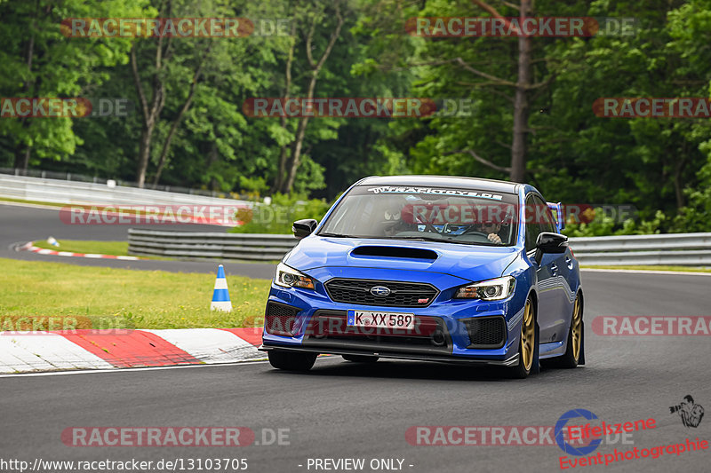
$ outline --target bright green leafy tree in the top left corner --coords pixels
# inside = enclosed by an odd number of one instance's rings
[[[117,38],[68,39],[61,20],[86,17],[140,17],[149,12],[145,0],[7,0],[0,3],[0,95],[2,97],[80,97],[108,76],[97,67],[113,67],[128,59],[130,43]],[[67,159],[82,143],[72,119],[18,117],[0,120],[4,161],[27,169],[43,161]],[[12,156],[12,157],[11,157]]]

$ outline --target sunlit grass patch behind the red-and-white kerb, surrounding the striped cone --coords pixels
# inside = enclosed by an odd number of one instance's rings
[[[260,326],[269,280],[228,275],[233,311],[210,311],[215,275],[0,258],[0,319],[81,317],[119,328]]]

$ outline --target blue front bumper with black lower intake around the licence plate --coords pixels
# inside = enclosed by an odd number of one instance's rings
[[[371,355],[392,359],[422,359],[480,365],[512,366],[518,363],[518,340],[523,300],[516,295],[504,301],[451,299],[443,290],[427,307],[404,308],[333,302],[323,291],[280,288],[272,285],[270,307],[291,323],[274,329],[265,323],[262,351],[308,351],[336,355]],[[411,313],[414,331],[359,332],[346,325],[348,310]],[[292,314],[291,316],[289,314]],[[268,318],[269,320],[269,318]],[[500,339],[491,343],[473,335],[473,327],[499,327]],[[483,343],[485,342],[485,343]]]

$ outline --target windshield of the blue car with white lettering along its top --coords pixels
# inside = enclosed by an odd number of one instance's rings
[[[511,246],[517,199],[513,193],[472,189],[359,185],[318,234]]]

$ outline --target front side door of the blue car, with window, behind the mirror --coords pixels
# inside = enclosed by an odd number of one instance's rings
[[[547,203],[533,194],[532,201],[535,205],[536,221],[540,232],[557,233],[555,220]],[[566,261],[566,258],[568,261]],[[539,268],[539,298],[545,301],[545,311],[542,317],[544,322],[540,326],[541,343],[559,342],[565,336],[566,315],[569,311],[569,290],[566,280],[569,276],[569,251],[565,253],[545,253],[540,261]],[[543,280],[543,281],[542,281]],[[545,326],[545,328],[544,328]]]

